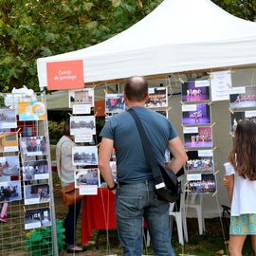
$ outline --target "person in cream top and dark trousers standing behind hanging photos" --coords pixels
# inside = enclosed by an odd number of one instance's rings
[[[73,137],[70,136],[69,120],[64,122],[63,137],[56,146],[56,160],[58,175],[64,188],[74,182],[76,168],[72,165],[72,147],[76,146]],[[65,243],[68,253],[79,253],[85,248],[76,245],[77,221],[79,218],[82,202],[68,207],[68,212],[64,219]]]

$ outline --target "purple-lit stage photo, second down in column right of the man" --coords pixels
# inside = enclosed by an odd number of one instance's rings
[[[182,124],[202,125],[210,124],[209,104],[182,105]]]

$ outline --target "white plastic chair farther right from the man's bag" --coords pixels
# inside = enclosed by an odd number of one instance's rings
[[[198,221],[198,230],[200,235],[202,235],[206,230],[202,203],[203,203],[202,194],[188,194],[186,198],[186,204],[185,204],[186,214],[184,214],[184,218],[186,219],[188,209],[194,209],[196,211],[196,217]]]

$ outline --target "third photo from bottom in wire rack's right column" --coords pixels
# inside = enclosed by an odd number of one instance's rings
[[[37,180],[49,178],[46,160],[25,161],[22,164],[23,180]]]

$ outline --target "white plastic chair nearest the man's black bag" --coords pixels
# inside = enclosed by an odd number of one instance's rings
[[[185,214],[185,190],[184,190],[184,184],[185,184],[185,175],[181,175],[178,177],[178,180],[181,181],[181,188],[182,193],[180,194],[180,206],[179,209],[175,208],[175,203],[170,203],[170,209],[169,209],[169,215],[170,218],[170,229],[173,229],[173,217],[175,218],[176,226],[177,226],[177,232],[178,232],[178,242],[181,245],[184,245],[184,239],[185,242],[189,241],[188,237],[188,228],[187,228],[187,220],[186,220],[186,214]]]

